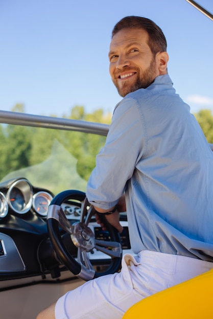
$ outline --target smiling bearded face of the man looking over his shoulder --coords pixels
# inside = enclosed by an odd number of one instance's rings
[[[123,29],[112,38],[109,72],[122,97],[147,88],[159,75],[148,38],[143,29]]]

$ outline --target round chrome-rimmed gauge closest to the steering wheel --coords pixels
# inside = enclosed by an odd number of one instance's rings
[[[41,216],[48,215],[48,207],[53,197],[47,192],[38,192],[33,195],[33,209]]]

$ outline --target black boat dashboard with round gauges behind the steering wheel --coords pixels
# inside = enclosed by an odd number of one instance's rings
[[[49,238],[46,217],[53,198],[52,192],[35,187],[26,178],[0,183],[0,291],[14,285],[15,279],[19,279],[17,284],[20,284],[20,279],[25,282],[47,278],[58,280],[64,278],[64,272],[68,273],[68,278],[72,276],[58,259]],[[61,207],[71,224],[79,222],[80,202],[67,200]],[[123,252],[132,253],[126,212],[121,213],[121,223],[124,227],[121,234]],[[103,231],[94,218],[89,227],[97,240],[109,241],[108,231]],[[77,248],[70,235],[60,231],[69,252],[76,258]],[[96,271],[110,262],[110,257],[97,249],[88,254]]]

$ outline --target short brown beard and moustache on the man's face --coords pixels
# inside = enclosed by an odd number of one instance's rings
[[[136,78],[134,83],[130,83],[129,81],[124,81],[122,86],[119,85],[120,81],[117,78],[116,74],[114,74],[114,78],[112,79],[117,91],[122,97],[125,97],[127,94],[134,92],[138,89],[146,89],[148,88],[153,82],[156,77],[156,62],[153,58],[150,62],[150,66],[139,76],[140,69],[137,67],[124,67],[123,71],[135,71]]]

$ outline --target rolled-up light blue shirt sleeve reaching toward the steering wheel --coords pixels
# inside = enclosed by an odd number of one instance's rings
[[[126,97],[116,105],[105,146],[87,184],[91,204],[103,209],[116,205],[143,153],[144,127],[137,102]]]

